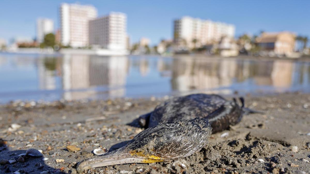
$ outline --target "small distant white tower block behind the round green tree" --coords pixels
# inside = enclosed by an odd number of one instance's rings
[[[37,42],[42,43],[44,36],[54,32],[54,21],[51,19],[37,19]]]

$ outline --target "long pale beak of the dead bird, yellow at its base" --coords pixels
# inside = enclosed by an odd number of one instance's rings
[[[127,152],[124,147],[108,152],[104,155],[86,159],[85,161],[78,164],[77,172],[83,173],[86,169],[104,167],[104,166],[113,166],[118,164],[128,164],[128,163],[155,163],[161,162],[159,157],[152,157],[145,155],[140,155],[140,153],[135,153],[133,151]]]

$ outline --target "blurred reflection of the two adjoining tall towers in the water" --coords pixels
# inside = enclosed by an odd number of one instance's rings
[[[98,93],[96,88],[107,90],[105,97],[123,97],[127,72],[126,56],[64,55],[63,97],[66,100],[92,98]]]

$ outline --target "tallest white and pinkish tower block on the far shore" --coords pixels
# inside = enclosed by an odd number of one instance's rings
[[[97,9],[91,5],[67,4],[60,6],[60,41],[65,46],[89,45],[89,21],[97,17]]]

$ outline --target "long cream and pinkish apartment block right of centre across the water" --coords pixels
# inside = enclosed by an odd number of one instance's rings
[[[193,48],[219,41],[221,37],[234,37],[235,26],[211,20],[182,17],[174,21],[174,41]],[[195,43],[196,41],[196,43]]]

